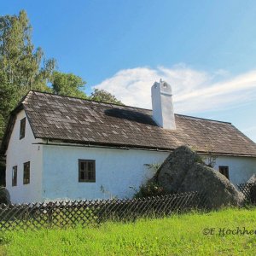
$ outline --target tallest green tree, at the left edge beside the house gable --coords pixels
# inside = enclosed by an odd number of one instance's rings
[[[47,82],[54,68],[55,60],[45,60],[43,50],[34,48],[24,10],[0,16],[0,137],[9,111],[28,90],[50,90]]]

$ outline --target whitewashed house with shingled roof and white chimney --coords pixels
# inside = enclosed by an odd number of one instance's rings
[[[10,114],[1,152],[11,201],[131,197],[161,163],[189,145],[216,155],[232,183],[256,173],[256,144],[226,122],[174,114],[172,90],[152,86],[153,111],[30,91]]]

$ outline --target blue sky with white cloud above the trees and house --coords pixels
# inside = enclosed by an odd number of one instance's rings
[[[256,2],[3,1],[25,9],[33,43],[91,88],[151,108],[150,86],[172,84],[174,109],[230,121],[256,142]]]

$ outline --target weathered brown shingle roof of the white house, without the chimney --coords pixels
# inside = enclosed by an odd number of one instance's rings
[[[226,122],[175,114],[175,131],[155,124],[152,111],[30,91],[21,102],[34,136],[69,143],[174,149],[256,156],[256,144]]]

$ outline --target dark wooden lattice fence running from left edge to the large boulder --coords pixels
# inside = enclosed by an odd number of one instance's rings
[[[193,208],[205,208],[207,199],[198,192],[140,199],[96,201],[50,201],[0,205],[0,230],[26,230],[49,227],[98,225],[106,221],[134,221],[157,218]]]

